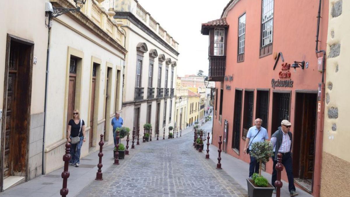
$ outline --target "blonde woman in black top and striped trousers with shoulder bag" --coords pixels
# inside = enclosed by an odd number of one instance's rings
[[[83,142],[86,141],[85,137],[85,123],[80,119],[79,110],[73,110],[73,119],[68,122],[68,142],[71,142],[70,155],[71,159],[69,163],[79,167],[80,163],[80,149]]]

